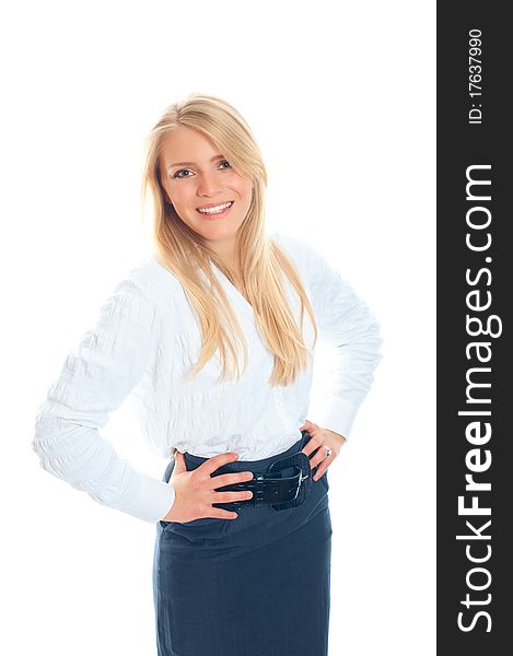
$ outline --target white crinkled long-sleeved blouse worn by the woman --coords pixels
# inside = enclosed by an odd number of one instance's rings
[[[282,232],[270,236],[296,265],[319,337],[334,351],[329,395],[320,415],[308,419],[348,437],[381,360],[378,324],[324,256]],[[300,440],[315,353],[308,314],[303,337],[311,364],[292,385],[272,388],[272,353],[260,339],[253,307],[218,267],[213,270],[247,340],[242,378],[217,383],[215,354],[190,383],[180,380],[199,355],[201,335],[178,279],[150,255],[116,285],[38,408],[33,449],[46,471],[103,505],[155,523],[172,507],[173,487],[135,469],[98,432],[125,399],[163,458],[179,449],[206,458],[234,452],[240,460],[258,460]],[[299,317],[299,297],[285,282]]]

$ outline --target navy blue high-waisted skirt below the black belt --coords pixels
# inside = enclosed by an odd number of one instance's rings
[[[236,460],[236,471],[267,471],[301,450]],[[187,470],[207,458],[185,454]],[[163,480],[168,482],[175,461]],[[315,472],[316,468],[314,468]],[[283,470],[293,476],[294,470]],[[276,511],[238,508],[236,519],[158,522],[153,600],[159,656],[326,656],[331,520],[327,472],[305,501]]]

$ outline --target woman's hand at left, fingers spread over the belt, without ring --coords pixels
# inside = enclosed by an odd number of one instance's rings
[[[193,522],[202,517],[219,517],[220,519],[235,519],[236,513],[224,508],[214,508],[212,503],[231,503],[233,501],[245,501],[253,496],[253,492],[241,490],[240,492],[215,492],[217,488],[233,485],[253,479],[252,471],[238,471],[236,473],[221,473],[215,477],[210,475],[226,465],[234,462],[237,454],[226,453],[213,456],[202,462],[193,471],[187,471],[184,454],[175,452],[175,466],[171,475],[170,485],[175,490],[175,500],[170,512],[161,522]]]

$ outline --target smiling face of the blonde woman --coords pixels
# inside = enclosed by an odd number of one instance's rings
[[[231,257],[235,234],[249,210],[252,181],[236,173],[215,144],[193,128],[170,132],[162,148],[161,180],[176,213],[212,242],[212,248]]]

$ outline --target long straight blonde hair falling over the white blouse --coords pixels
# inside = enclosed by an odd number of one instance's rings
[[[294,265],[277,243],[265,232],[264,200],[267,173],[260,150],[246,121],[225,101],[199,93],[189,94],[170,105],[145,141],[141,202],[152,202],[152,242],[160,263],[182,283],[197,315],[202,335],[199,359],[187,377],[195,376],[219,350],[221,378],[241,376],[247,365],[247,343],[233,307],[222,285],[215,279],[211,262],[233,283],[234,271],[209,247],[208,241],[193,231],[177,215],[161,184],[160,156],[163,137],[182,126],[194,128],[208,137],[233,168],[253,180],[253,198],[248,213],[236,235],[236,251],[241,263],[244,293],[255,314],[260,335],[275,355],[269,384],[290,385],[307,366],[310,352],[303,341],[303,315],[306,308],[314,328],[317,326],[310,300]],[[207,277],[211,288],[200,277]],[[283,286],[284,276],[291,281],[301,301],[301,327],[290,309]],[[244,370],[238,367],[236,342],[244,349]],[[313,347],[312,347],[313,348]]]

